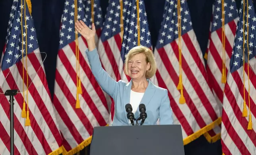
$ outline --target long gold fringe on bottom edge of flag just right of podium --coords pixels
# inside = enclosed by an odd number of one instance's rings
[[[198,130],[194,134],[191,134],[188,137],[184,138],[183,144],[186,145],[186,144],[196,140],[198,137],[202,136],[203,134],[205,134],[206,132],[208,132],[209,130],[213,129],[214,127],[216,127],[217,125],[220,125],[220,124],[221,124],[221,117],[219,117],[218,119],[216,119],[209,125],[206,125],[202,129]]]

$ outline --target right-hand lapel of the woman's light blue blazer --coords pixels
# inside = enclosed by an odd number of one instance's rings
[[[140,101],[140,104],[145,104],[145,107],[147,107],[147,105],[149,104],[151,98],[153,97],[154,93],[155,93],[155,87],[153,85],[153,83],[147,79],[148,81],[148,85],[147,85],[147,89],[145,90],[145,93],[142,97],[142,100]],[[130,98],[129,98],[130,100]],[[146,108],[147,111],[147,108]],[[140,109],[139,107],[137,108],[136,113],[134,113],[135,118],[137,119],[138,117],[140,117]]]

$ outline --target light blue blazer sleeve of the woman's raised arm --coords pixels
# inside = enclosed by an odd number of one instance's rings
[[[86,49],[85,53],[91,67],[91,72],[93,73],[96,81],[99,83],[103,91],[113,98],[114,92],[118,88],[118,82],[112,79],[102,68],[97,48],[95,47],[93,51]]]

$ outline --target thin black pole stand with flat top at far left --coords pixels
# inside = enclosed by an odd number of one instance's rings
[[[14,155],[14,95],[18,90],[7,90],[4,95],[10,96],[10,138],[11,138],[11,150],[10,155]]]

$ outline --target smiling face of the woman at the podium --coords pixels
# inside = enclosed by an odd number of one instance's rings
[[[132,79],[144,79],[150,64],[144,53],[138,53],[128,60],[128,74]]]

